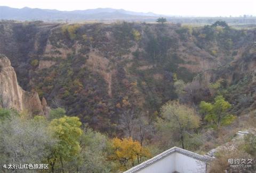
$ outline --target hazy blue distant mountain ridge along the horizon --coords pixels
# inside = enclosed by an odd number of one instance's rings
[[[147,20],[155,19],[158,14],[132,12],[114,8],[58,11],[41,8],[11,8],[0,6],[0,20],[42,20],[42,21],[83,21],[83,20]]]

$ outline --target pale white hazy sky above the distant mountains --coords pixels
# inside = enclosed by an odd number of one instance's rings
[[[256,15],[256,0],[0,0],[0,6],[27,6],[61,11],[110,7],[135,12],[186,16]]]

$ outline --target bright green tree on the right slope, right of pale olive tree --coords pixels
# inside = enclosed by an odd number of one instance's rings
[[[214,103],[201,101],[199,105],[201,113],[205,114],[205,120],[211,123],[214,128],[219,128],[222,125],[229,125],[235,119],[235,116],[227,113],[231,108],[229,102],[225,101],[223,96],[217,96]]]

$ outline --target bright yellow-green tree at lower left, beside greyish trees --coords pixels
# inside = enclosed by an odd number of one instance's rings
[[[79,137],[83,132],[80,128],[81,125],[82,123],[78,117],[64,116],[51,121],[50,128],[53,132],[53,137],[58,140],[48,157],[52,172],[54,172],[54,166],[57,161],[60,161],[61,170],[64,172],[63,162],[77,157],[81,151],[79,145]]]

